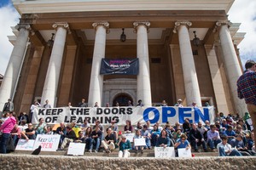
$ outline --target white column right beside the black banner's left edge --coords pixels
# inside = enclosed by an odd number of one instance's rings
[[[93,106],[95,102],[102,105],[103,76],[100,75],[102,58],[105,58],[106,36],[108,32],[108,22],[93,23],[96,30],[92,67],[90,73],[90,88],[88,96],[88,106]]]

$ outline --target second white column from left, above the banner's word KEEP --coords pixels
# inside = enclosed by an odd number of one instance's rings
[[[49,65],[44,81],[44,89],[41,99],[42,105],[44,105],[44,101],[48,99],[49,105],[51,105],[52,107],[55,106],[55,99],[61,72],[62,56],[66,42],[68,24],[55,23],[53,27],[56,29],[55,41],[49,59]]]

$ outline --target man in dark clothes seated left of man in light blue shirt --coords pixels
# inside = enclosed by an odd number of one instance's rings
[[[192,124],[192,129],[189,131],[190,143],[196,152],[199,152],[198,146],[202,144],[203,149],[207,152],[207,143],[203,139],[201,133],[197,130],[195,123]]]

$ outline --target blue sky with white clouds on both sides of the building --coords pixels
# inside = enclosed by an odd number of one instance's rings
[[[0,0],[0,74],[4,75],[9,62],[13,45],[7,36],[13,36],[11,26],[19,23],[20,15],[10,3],[11,0]],[[241,62],[247,59],[256,60],[256,0],[236,0],[229,11],[229,20],[241,23],[239,32],[246,32],[239,44]]]

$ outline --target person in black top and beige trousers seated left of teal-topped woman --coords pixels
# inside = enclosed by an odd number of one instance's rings
[[[116,138],[115,135],[112,132],[112,129],[110,127],[107,128],[107,135],[105,136],[105,139],[102,140],[102,146],[106,150],[107,153],[110,153],[112,150],[115,149],[115,142]]]

